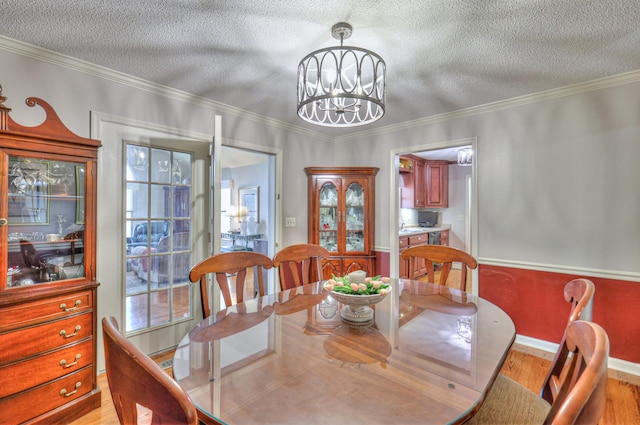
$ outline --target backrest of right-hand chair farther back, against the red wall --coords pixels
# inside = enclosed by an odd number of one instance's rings
[[[564,299],[571,304],[568,323],[581,318],[583,320],[591,320],[591,314],[583,313],[585,313],[585,308],[593,299],[594,294],[595,285],[588,279],[573,279],[564,286]],[[560,373],[569,355],[569,350],[565,346],[566,337],[567,332],[565,329],[562,340],[560,341],[560,348],[551,362],[551,367],[540,389],[540,397],[549,403],[552,403],[558,394],[561,380]]]

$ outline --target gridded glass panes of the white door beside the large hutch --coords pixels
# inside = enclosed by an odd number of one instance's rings
[[[126,152],[125,321],[139,331],[193,312],[192,154],[132,144]]]

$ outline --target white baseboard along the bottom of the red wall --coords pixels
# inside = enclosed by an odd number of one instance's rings
[[[542,357],[543,359],[552,360],[558,344],[541,339],[531,338],[523,335],[516,335],[516,341],[513,345],[514,350],[523,351],[533,356]],[[609,377],[628,382],[633,385],[640,385],[640,364],[626,360],[609,358]]]

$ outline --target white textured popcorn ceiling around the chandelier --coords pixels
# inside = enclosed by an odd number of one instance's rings
[[[640,69],[639,0],[0,0],[0,35],[337,136]],[[387,63],[378,122],[296,115],[297,66],[345,44]]]

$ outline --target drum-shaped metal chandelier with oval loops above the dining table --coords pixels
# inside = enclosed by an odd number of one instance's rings
[[[384,60],[359,47],[343,46],[351,25],[331,28],[339,47],[309,53],[298,65],[298,116],[326,127],[369,124],[384,115]]]

